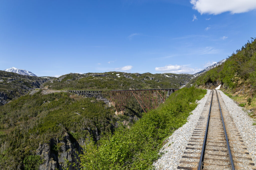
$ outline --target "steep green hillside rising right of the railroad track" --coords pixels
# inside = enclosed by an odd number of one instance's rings
[[[192,80],[202,88],[216,88],[219,84],[231,98],[247,109],[256,108],[256,39],[252,38],[220,66]],[[252,115],[253,116],[253,115]]]

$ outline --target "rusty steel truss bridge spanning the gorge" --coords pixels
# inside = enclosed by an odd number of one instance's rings
[[[124,111],[130,98],[134,96],[144,112],[157,108],[178,89],[112,90],[110,100],[117,112]]]

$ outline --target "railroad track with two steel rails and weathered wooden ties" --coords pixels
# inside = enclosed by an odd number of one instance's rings
[[[232,116],[212,89],[177,169],[255,169]]]

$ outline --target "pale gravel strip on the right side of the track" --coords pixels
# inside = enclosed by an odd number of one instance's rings
[[[252,125],[253,119],[231,98],[221,90],[218,91],[241,134],[244,144],[252,157],[252,161],[256,163],[256,126]]]

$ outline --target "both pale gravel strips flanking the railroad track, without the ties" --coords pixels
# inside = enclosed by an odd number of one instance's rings
[[[168,142],[159,151],[159,154],[164,154],[153,164],[156,169],[177,169],[179,161],[186,150],[190,136],[193,133],[199,116],[210,95],[210,91],[211,90],[207,90],[205,97],[199,101],[196,109],[192,111],[193,114],[188,117],[188,122],[177,129],[168,138]],[[225,103],[225,106],[222,107],[225,107],[232,116],[233,121],[241,134],[242,140],[246,145],[245,147],[250,153],[252,161],[256,163],[256,126],[253,125],[254,120],[249,117],[248,112],[244,111],[236,102],[225,95],[221,90],[218,91]]]

